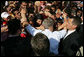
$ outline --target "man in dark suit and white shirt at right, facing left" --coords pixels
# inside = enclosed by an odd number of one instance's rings
[[[76,56],[77,50],[80,48],[80,34],[76,28],[80,25],[79,17],[70,17],[67,23],[67,34],[60,40],[59,54],[63,56]]]

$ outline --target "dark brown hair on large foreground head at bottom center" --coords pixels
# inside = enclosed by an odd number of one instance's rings
[[[48,37],[42,33],[37,33],[31,39],[31,46],[36,56],[47,56],[49,53],[50,43]]]

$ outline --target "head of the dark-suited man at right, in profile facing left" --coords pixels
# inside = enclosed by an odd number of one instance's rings
[[[68,19],[67,28],[69,30],[76,29],[81,24],[81,18],[80,17],[71,17]]]

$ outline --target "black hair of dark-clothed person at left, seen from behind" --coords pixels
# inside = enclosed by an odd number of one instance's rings
[[[10,34],[17,33],[17,30],[20,29],[20,20],[12,19],[8,21],[8,30]]]

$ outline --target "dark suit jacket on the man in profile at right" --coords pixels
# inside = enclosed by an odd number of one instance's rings
[[[77,31],[68,35],[65,39],[61,39],[59,43],[59,54],[63,56],[75,56],[79,44],[79,33]]]

